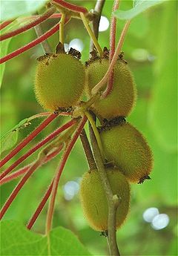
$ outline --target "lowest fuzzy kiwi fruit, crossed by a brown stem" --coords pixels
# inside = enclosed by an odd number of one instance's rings
[[[119,197],[116,211],[116,229],[122,225],[128,215],[130,186],[125,176],[115,168],[105,169],[113,194]],[[108,230],[108,203],[97,169],[86,172],[80,184],[80,200],[90,227],[99,232]]]

